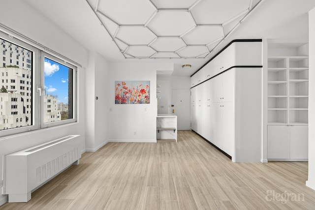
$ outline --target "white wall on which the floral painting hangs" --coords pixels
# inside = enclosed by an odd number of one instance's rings
[[[157,70],[173,69],[172,63],[109,64],[109,141],[156,142]],[[115,104],[115,81],[150,81],[150,104]]]

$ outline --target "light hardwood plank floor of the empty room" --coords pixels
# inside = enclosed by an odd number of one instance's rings
[[[1,210],[315,210],[307,162],[233,163],[191,131],[108,143]]]

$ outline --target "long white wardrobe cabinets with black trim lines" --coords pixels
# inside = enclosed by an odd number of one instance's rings
[[[234,42],[191,77],[191,129],[233,162],[261,161],[261,49]]]

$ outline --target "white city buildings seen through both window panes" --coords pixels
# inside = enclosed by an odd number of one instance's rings
[[[0,39],[0,130],[32,125],[32,51]],[[68,104],[44,95],[44,122],[67,119]]]

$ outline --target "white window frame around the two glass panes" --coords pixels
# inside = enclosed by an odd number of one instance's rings
[[[19,37],[19,36],[17,36]],[[23,127],[14,127],[10,129],[0,130],[0,139],[6,136],[17,135],[21,133],[30,132],[33,130],[40,130],[45,129],[48,127],[59,126],[59,125],[66,125],[70,123],[77,122],[77,93],[78,93],[78,86],[77,86],[77,73],[80,64],[73,64],[73,61],[67,60],[63,56],[59,55],[58,53],[55,55],[54,52],[44,52],[41,50],[40,46],[37,46],[34,43],[30,43],[23,38],[15,38],[14,36],[8,35],[8,33],[3,32],[0,28],[0,38],[5,41],[9,41],[12,44],[21,46],[29,51],[32,51],[32,57],[30,56],[29,59],[32,61],[30,64],[32,65],[32,115],[29,119],[32,121],[32,125],[25,125]],[[59,58],[58,58],[58,57]],[[42,87],[41,90],[44,90],[44,58],[47,57],[51,60],[59,62],[65,66],[68,66],[73,69],[73,118],[69,120],[61,120],[61,121],[54,121],[54,122],[46,122],[44,123],[44,97],[43,94],[39,96],[39,91],[36,87]],[[61,58],[61,59],[60,59]],[[75,63],[75,62],[74,62]],[[22,66],[23,67],[23,66]],[[39,72],[38,72],[39,71]],[[42,91],[41,93],[44,93]]]

